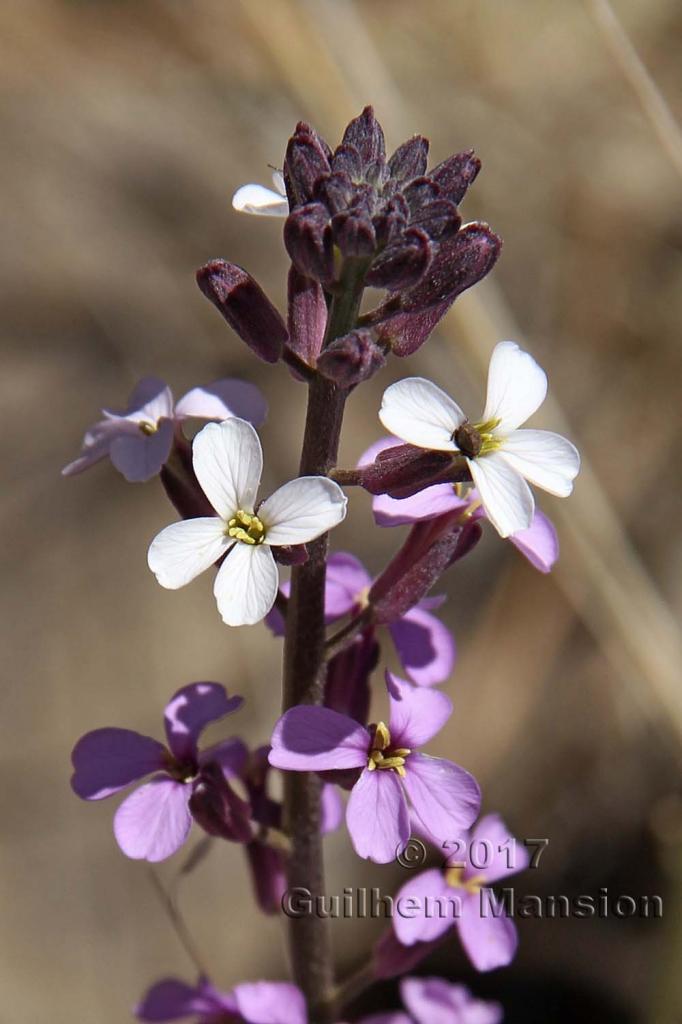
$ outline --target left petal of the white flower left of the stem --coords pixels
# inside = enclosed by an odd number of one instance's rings
[[[216,562],[230,544],[218,516],[183,519],[155,537],[146,560],[162,587],[177,590]]]

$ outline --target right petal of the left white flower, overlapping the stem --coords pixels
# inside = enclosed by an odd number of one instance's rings
[[[270,495],[258,509],[265,543],[305,544],[337,526],[346,514],[347,499],[326,476],[299,476]]]

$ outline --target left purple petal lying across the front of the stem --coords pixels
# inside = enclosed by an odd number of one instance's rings
[[[300,705],[274,726],[268,761],[289,771],[331,771],[367,764],[370,736],[346,715]]]

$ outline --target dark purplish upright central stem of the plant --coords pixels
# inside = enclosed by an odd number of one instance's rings
[[[363,274],[346,268],[342,288],[330,305],[325,344],[352,330],[363,295]],[[308,408],[300,473],[326,475],[335,465],[347,392],[324,377],[308,384]],[[299,703],[322,705],[325,696],[325,577],[328,536],[308,545],[308,560],[292,568],[287,606],[284,664],[284,711]],[[321,780],[310,772],[285,772],[284,821],[291,838],[290,889],[313,897],[325,895],[325,868],[319,831]],[[314,913],[290,918],[290,959],[294,981],[302,989],[311,1018],[328,1021],[334,987],[329,922]]]

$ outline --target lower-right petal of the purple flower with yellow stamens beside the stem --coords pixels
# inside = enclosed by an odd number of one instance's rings
[[[435,690],[421,690],[426,696]],[[411,754],[402,780],[415,813],[433,836],[446,842],[475,821],[480,790],[473,775],[442,758]]]

